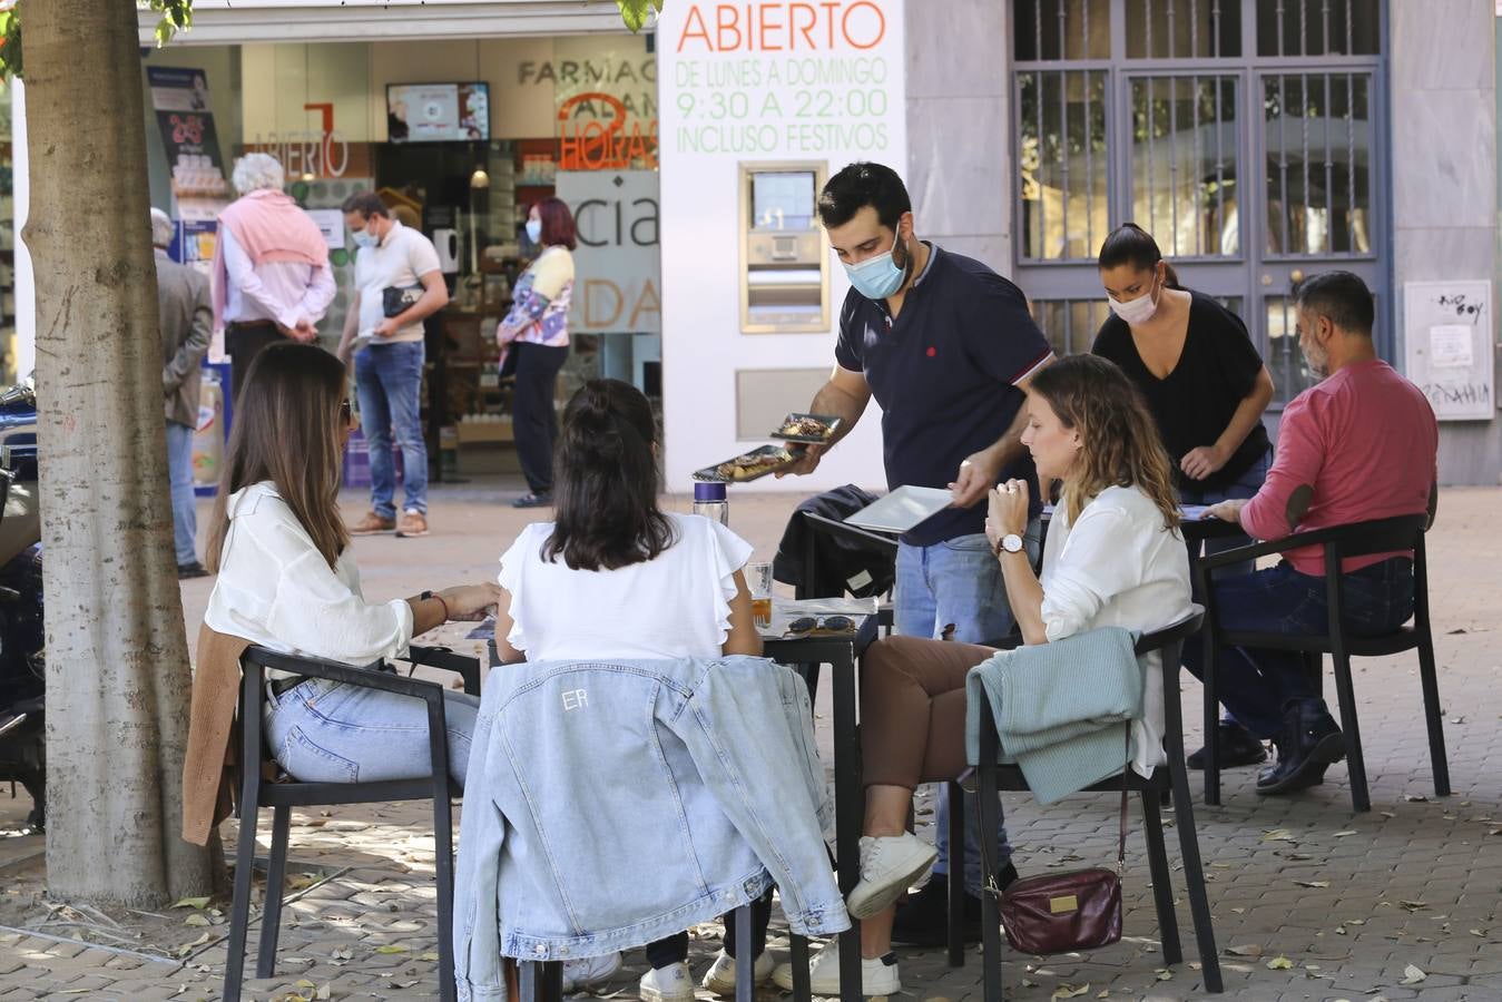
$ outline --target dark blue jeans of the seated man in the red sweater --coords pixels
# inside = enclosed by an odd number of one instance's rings
[[[1227,631],[1323,634],[1329,629],[1325,578],[1299,574],[1290,563],[1266,571],[1217,578],[1217,623]],[[1413,614],[1413,562],[1389,557],[1341,575],[1346,626],[1358,635],[1392,632]],[[1184,667],[1203,679],[1205,643],[1184,644]],[[1221,647],[1215,669],[1215,696],[1257,738],[1283,729],[1283,706],[1290,699],[1317,697],[1304,655],[1296,650]]]

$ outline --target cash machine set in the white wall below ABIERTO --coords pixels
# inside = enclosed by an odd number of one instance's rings
[[[829,165],[742,162],[740,332],[829,330],[829,249],[814,206]]]

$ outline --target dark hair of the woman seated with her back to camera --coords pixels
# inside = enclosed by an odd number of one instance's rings
[[[652,406],[631,383],[595,379],[574,394],[553,457],[557,518],[544,560],[614,571],[673,545],[673,523],[656,503],[655,442]]]

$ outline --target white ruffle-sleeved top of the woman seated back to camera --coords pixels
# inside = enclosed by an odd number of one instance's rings
[[[614,571],[572,571],[562,556],[547,562],[553,523],[523,529],[500,557],[511,646],[529,661],[718,656],[751,544],[701,515],[667,517],[677,541],[655,560]]]

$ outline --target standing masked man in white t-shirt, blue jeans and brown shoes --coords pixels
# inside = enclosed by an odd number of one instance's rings
[[[428,535],[428,448],[422,437],[422,321],[449,302],[439,252],[418,230],[401,225],[372,192],[350,195],[344,222],[354,234],[354,302],[344,318],[339,358],[354,362],[360,424],[371,454],[371,511],[350,533]],[[397,472],[391,445],[401,446],[407,500],[397,523]]]

